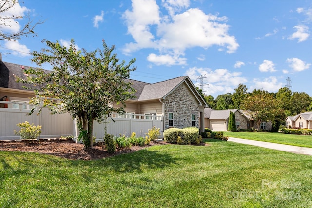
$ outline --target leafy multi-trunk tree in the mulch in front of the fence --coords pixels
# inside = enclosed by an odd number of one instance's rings
[[[26,79],[17,78],[23,83],[32,84],[36,96],[30,101],[36,107],[49,107],[52,113],[69,112],[73,118],[78,117],[78,125],[90,142],[86,148],[93,146],[93,122],[103,122],[112,112],[124,113],[125,101],[133,98],[135,92],[130,81],[130,68],[135,59],[125,65],[113,54],[115,46],[108,47],[103,40],[104,50],[87,52],[77,51],[74,40],[69,48],[59,42],[44,40],[49,47],[41,52],[34,51],[32,61],[39,66],[49,63],[51,72],[43,69],[24,69]],[[97,55],[99,54],[99,57]],[[38,89],[39,87],[39,89]],[[41,103],[43,105],[41,106]],[[122,104],[114,107],[114,104]],[[40,112],[39,110],[39,112]]]

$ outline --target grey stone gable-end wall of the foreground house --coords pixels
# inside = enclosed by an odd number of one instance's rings
[[[199,127],[198,101],[185,83],[163,100],[165,126],[169,126],[169,112],[174,113],[174,126],[184,128],[192,126],[192,114],[195,114],[195,127]]]

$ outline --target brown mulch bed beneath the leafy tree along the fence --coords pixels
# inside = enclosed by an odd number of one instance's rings
[[[39,152],[73,160],[95,160],[118,154],[130,153],[148,146],[160,144],[166,144],[166,142],[151,142],[150,145],[145,145],[144,147],[132,146],[131,148],[117,148],[114,154],[110,154],[105,150],[105,146],[101,144],[94,146],[93,149],[85,149],[83,144],[64,139],[0,141],[0,151]]]

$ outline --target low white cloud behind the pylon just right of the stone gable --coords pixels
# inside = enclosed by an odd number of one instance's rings
[[[209,68],[189,68],[185,75],[195,83],[195,86],[199,85],[197,78],[200,75],[206,75],[208,85],[204,86],[204,90],[208,92],[208,95],[220,95],[228,92],[233,92],[240,83],[247,82],[245,77],[242,77],[241,72],[230,72],[227,69],[211,70]]]

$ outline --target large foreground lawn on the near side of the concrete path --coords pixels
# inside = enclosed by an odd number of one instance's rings
[[[312,207],[311,156],[205,141],[96,161],[0,151],[0,207]]]

